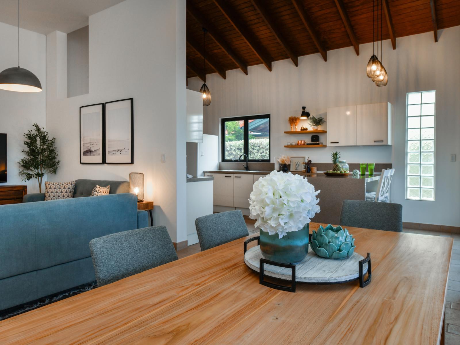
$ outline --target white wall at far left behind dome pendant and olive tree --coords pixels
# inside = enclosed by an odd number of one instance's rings
[[[17,27],[0,23],[0,37],[0,71],[17,67]],[[38,77],[44,91],[27,93],[0,90],[0,133],[7,133],[6,184],[27,184],[28,193],[37,193],[37,180],[22,182],[18,176],[17,162],[24,156],[21,152],[25,148],[23,134],[32,129],[34,122],[46,128],[46,37],[20,29],[20,48],[20,66]]]

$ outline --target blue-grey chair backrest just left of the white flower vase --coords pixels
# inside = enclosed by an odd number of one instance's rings
[[[249,236],[240,210],[209,214],[195,220],[201,250]]]

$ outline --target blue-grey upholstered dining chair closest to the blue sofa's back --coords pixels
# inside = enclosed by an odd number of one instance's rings
[[[89,247],[98,286],[178,259],[165,226],[94,238]]]

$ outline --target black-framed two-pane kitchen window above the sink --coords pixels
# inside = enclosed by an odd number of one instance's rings
[[[222,119],[221,140],[223,162],[270,162],[270,114]]]

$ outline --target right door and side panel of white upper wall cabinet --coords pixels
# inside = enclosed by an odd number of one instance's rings
[[[356,144],[391,145],[391,104],[356,106]]]

